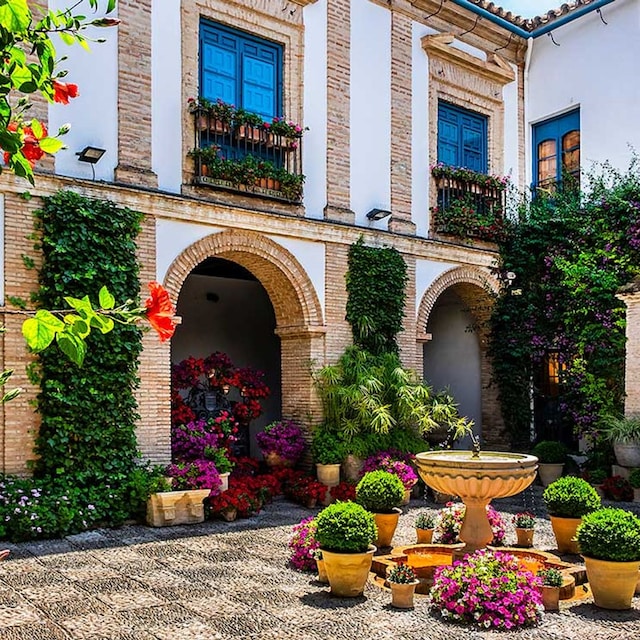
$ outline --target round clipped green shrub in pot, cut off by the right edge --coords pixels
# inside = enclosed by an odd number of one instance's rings
[[[624,509],[608,507],[585,515],[576,537],[580,551],[589,558],[640,560],[640,518]]]

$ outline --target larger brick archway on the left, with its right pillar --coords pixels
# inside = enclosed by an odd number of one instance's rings
[[[324,358],[322,307],[311,279],[284,247],[250,231],[211,234],[187,247],[171,264],[164,285],[173,300],[192,270],[209,257],[248,269],[271,300],[280,337],[282,414],[308,421],[318,413],[309,363]]]

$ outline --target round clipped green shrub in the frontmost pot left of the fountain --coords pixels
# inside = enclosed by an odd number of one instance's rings
[[[322,549],[362,553],[378,537],[373,514],[355,502],[335,502],[316,517],[316,540]]]

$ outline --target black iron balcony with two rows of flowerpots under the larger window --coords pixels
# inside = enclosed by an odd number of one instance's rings
[[[190,98],[188,108],[195,123],[195,146],[189,152],[195,184],[302,201],[302,127],[284,118],[265,122],[222,100]]]

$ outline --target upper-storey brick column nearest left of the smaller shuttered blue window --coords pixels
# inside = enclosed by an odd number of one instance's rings
[[[391,14],[391,220],[389,230],[415,235],[411,221],[411,19]]]

